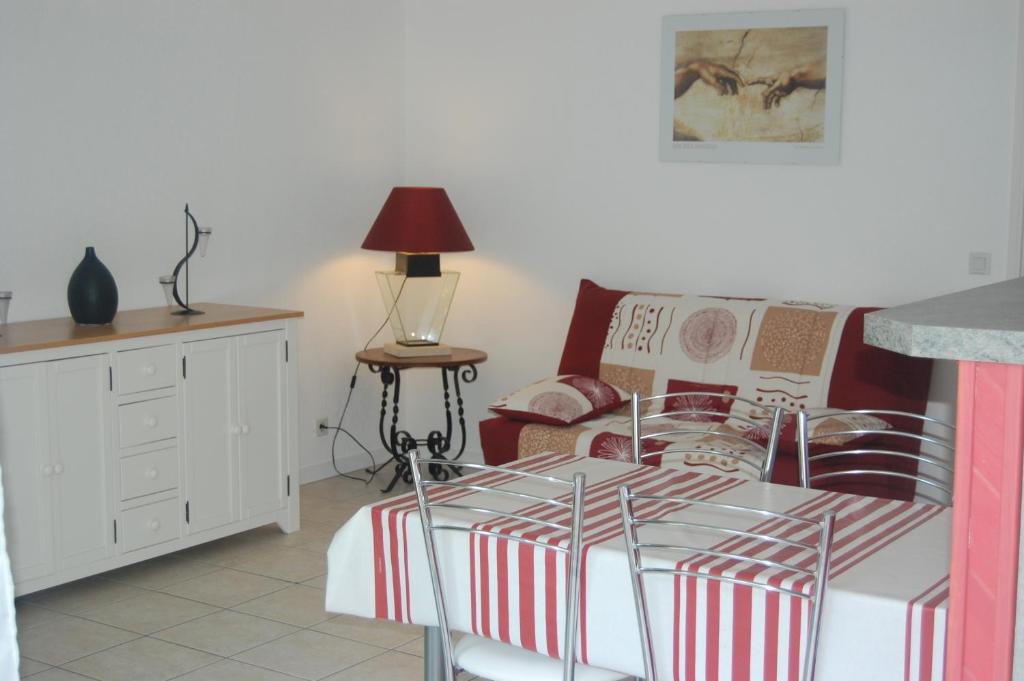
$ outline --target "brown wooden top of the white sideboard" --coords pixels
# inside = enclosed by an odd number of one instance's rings
[[[165,306],[122,310],[112,324],[103,326],[79,326],[70,316],[16,322],[0,326],[0,354],[302,316],[296,310],[221,303],[198,303],[193,307],[206,314],[171,314],[173,308]]]

